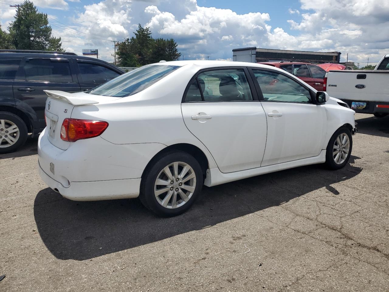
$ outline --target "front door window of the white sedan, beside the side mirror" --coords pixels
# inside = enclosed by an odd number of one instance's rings
[[[261,88],[263,98],[279,102],[311,102],[309,90],[278,72],[252,70]]]

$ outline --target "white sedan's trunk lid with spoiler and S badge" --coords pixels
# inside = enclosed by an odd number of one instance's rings
[[[75,106],[118,99],[118,97],[91,95],[84,92],[68,93],[58,90],[44,90],[44,92],[47,94],[45,107],[47,137],[51,144],[62,150],[67,150],[71,143],[61,139],[62,123],[63,120],[71,117]]]

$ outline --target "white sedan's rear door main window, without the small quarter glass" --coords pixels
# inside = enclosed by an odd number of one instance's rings
[[[243,69],[223,69],[202,72],[197,77],[204,101],[252,100],[249,83]]]

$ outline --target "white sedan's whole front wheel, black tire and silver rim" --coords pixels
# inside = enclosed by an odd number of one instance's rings
[[[341,127],[329,139],[326,151],[326,165],[329,169],[341,169],[350,159],[352,135],[348,128]]]

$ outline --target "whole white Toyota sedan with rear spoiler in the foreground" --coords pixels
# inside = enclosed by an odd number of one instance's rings
[[[308,164],[347,164],[354,111],[254,63],[151,64],[87,92],[49,91],[41,178],[76,201],[140,197],[161,216],[202,186]]]

